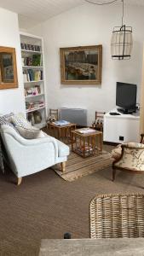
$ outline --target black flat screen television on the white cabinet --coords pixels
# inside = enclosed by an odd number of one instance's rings
[[[121,113],[133,113],[136,109],[136,84],[117,82],[116,105]]]

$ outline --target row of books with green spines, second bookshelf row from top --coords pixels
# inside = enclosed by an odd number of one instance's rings
[[[22,66],[42,66],[42,55],[32,55],[31,57],[22,57]]]

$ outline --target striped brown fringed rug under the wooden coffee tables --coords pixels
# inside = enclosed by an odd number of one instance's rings
[[[71,153],[66,161],[66,172],[60,171],[60,164],[53,166],[53,170],[66,181],[72,182],[111,165],[112,154],[107,151],[85,159],[78,154]]]

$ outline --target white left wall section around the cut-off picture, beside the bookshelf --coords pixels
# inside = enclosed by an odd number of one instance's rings
[[[0,45],[16,50],[18,88],[0,90],[0,113],[25,112],[18,15],[0,9]]]

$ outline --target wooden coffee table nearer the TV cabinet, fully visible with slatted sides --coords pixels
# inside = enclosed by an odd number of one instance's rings
[[[84,129],[72,131],[72,151],[84,158],[101,153],[102,132],[93,130],[89,133],[81,133],[82,130]]]

